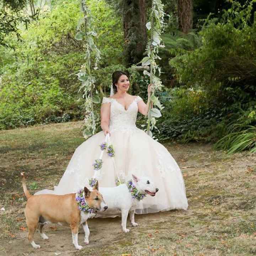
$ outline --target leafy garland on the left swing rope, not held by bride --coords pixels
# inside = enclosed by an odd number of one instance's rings
[[[98,69],[98,62],[101,56],[94,42],[94,39],[97,37],[93,28],[94,20],[90,9],[85,4],[85,0],[81,0],[81,11],[83,17],[81,17],[78,22],[76,29],[78,32],[75,35],[75,39],[84,42],[85,63],[82,64],[77,76],[82,83],[79,92],[82,92],[81,98],[84,99],[84,127],[86,128],[83,131],[83,135],[85,138],[88,138],[95,133],[96,121],[100,118],[98,113],[94,112],[93,103],[100,103],[100,97],[94,95],[94,92],[98,94],[98,91],[95,89],[95,77],[91,74],[91,70]],[[92,56],[94,56],[94,58],[92,58]]]

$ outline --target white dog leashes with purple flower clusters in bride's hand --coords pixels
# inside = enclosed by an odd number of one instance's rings
[[[100,144],[100,149],[101,149],[100,158],[96,159],[94,161],[94,163],[92,164],[92,166],[94,167],[94,176],[89,180],[90,187],[94,187],[97,182],[96,177],[97,177],[98,172],[102,168],[102,164],[103,164],[102,156],[103,156],[104,151],[106,151],[108,156],[110,156],[112,159],[116,155],[113,145],[111,144],[109,134],[106,135],[105,142]],[[114,164],[114,168],[116,170],[116,163],[115,163],[114,159],[113,159],[113,164]],[[117,174],[116,185],[118,186],[118,185],[122,184],[122,182],[120,181],[118,173],[116,173],[116,174]]]

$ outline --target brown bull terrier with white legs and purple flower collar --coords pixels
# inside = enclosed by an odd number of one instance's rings
[[[71,228],[73,244],[79,250],[82,249],[82,246],[78,245],[78,229],[82,224],[85,232],[84,241],[89,244],[90,230],[86,220],[91,214],[94,214],[92,213],[93,210],[105,211],[108,208],[102,195],[98,192],[98,182],[92,191],[84,187],[80,194],[39,194],[32,196],[27,190],[23,173],[21,173],[21,177],[22,187],[28,199],[25,208],[28,241],[34,248],[40,248],[40,245],[37,245],[33,240],[37,226],[39,226],[42,238],[48,239],[47,235],[43,233],[43,226],[48,223],[68,224]]]

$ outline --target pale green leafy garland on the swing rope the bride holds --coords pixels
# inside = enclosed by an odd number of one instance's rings
[[[156,97],[156,90],[161,90],[162,82],[158,76],[156,76],[156,71],[158,71],[158,75],[161,74],[161,68],[156,63],[158,59],[161,59],[158,55],[159,48],[165,47],[162,43],[162,39],[160,37],[161,33],[164,31],[164,5],[161,0],[152,0],[150,21],[146,23],[146,28],[150,30],[150,39],[146,46],[147,57],[144,57],[140,63],[144,66],[145,70],[143,71],[144,75],[148,75],[150,77],[150,84],[152,84],[152,94],[150,97],[150,105],[148,112],[148,126],[147,132],[152,136],[151,129],[156,128],[156,119],[161,116],[160,110],[162,110],[163,106],[159,101],[158,97]],[[150,67],[150,72],[147,71],[147,66]],[[151,108],[151,103],[158,108]],[[159,110],[160,109],[160,110]]]

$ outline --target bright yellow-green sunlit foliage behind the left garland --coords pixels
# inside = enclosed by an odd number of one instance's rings
[[[116,64],[122,52],[116,40],[122,36],[119,17],[104,0],[88,4],[96,20],[102,65]],[[15,51],[0,48],[0,129],[82,118],[75,74],[84,56],[82,44],[74,39],[80,16],[79,1],[56,1],[52,10],[22,32],[23,43],[9,38]]]

